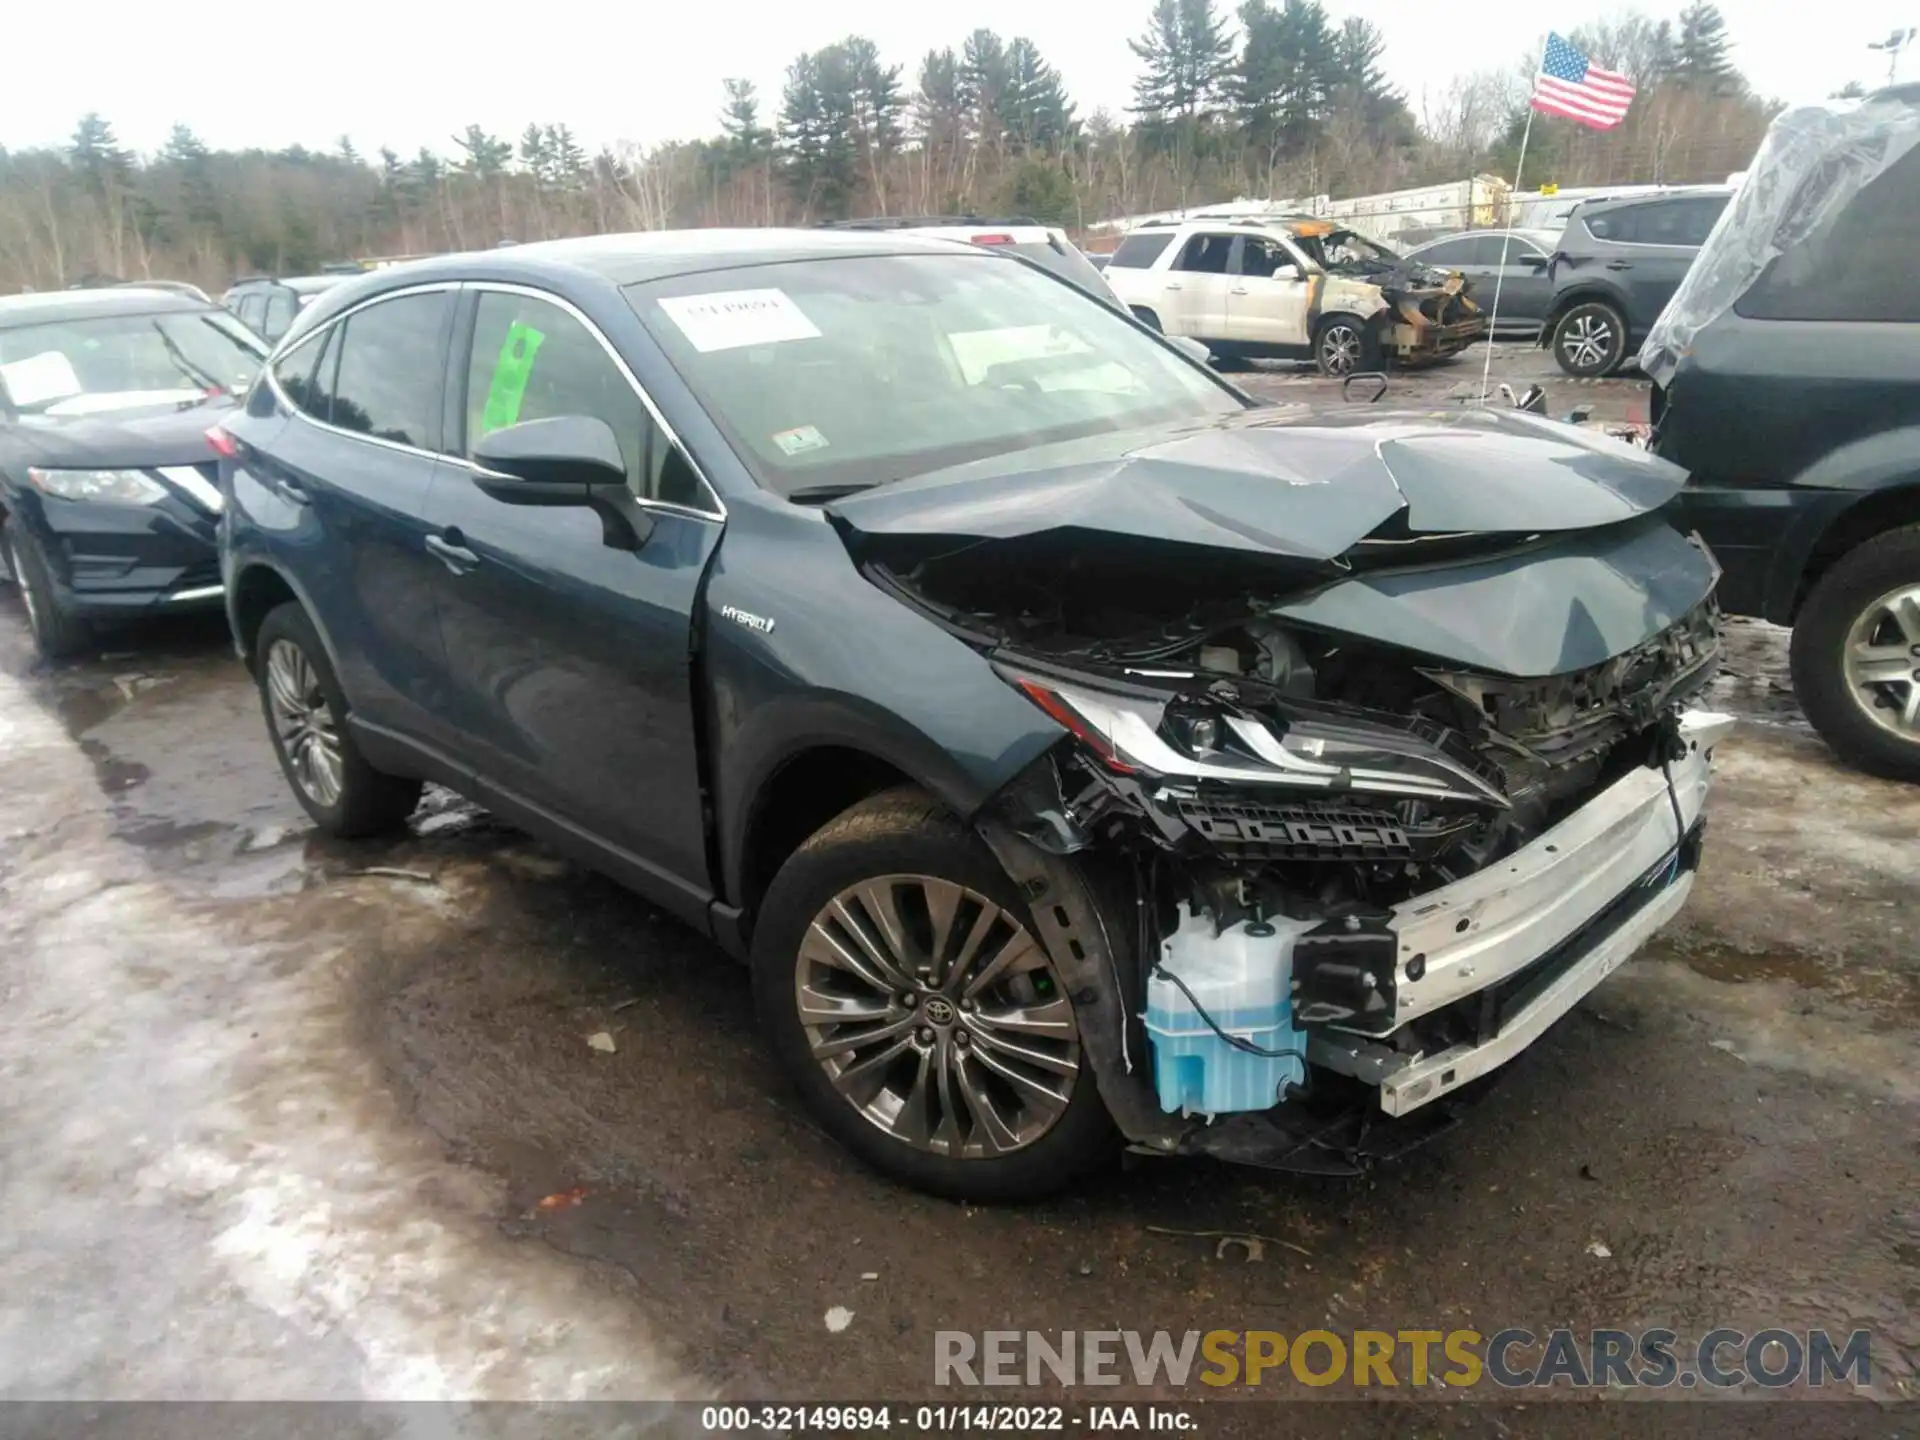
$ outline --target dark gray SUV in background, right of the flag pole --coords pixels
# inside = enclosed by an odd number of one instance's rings
[[[1707,244],[1732,190],[1586,200],[1548,267],[1540,344],[1567,374],[1613,374],[1645,340]]]

